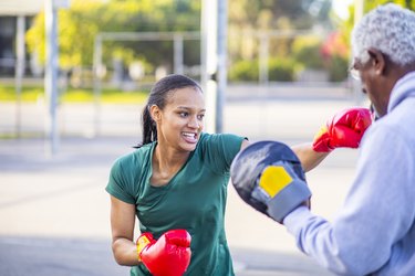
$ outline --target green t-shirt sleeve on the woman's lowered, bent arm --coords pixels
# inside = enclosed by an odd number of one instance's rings
[[[123,159],[117,159],[110,171],[110,179],[105,190],[113,197],[126,203],[135,204],[132,191],[128,191],[128,178],[123,170]]]

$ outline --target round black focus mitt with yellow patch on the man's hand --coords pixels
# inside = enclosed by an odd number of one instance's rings
[[[311,197],[300,160],[277,141],[242,149],[232,161],[230,177],[245,202],[279,223]]]

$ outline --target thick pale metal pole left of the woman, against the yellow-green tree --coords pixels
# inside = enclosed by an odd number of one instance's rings
[[[55,155],[59,146],[56,123],[58,98],[58,12],[53,0],[45,0],[45,30],[46,30],[46,67],[44,77],[45,94],[49,110],[46,131],[49,138],[49,153]]]

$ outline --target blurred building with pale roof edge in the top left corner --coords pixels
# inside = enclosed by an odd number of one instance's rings
[[[24,75],[31,74],[30,55],[24,39],[33,18],[43,9],[44,0],[0,1],[0,77],[13,76],[15,64],[22,60]]]

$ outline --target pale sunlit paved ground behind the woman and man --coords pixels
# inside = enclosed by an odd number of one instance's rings
[[[224,130],[289,145],[309,141],[350,99],[230,100]],[[0,103],[0,134],[13,131],[15,106]],[[28,138],[0,140],[0,275],[127,275],[111,254],[108,195],[113,160],[139,137],[137,106],[103,106],[101,136],[91,106],[60,109],[59,152],[48,155],[42,108],[24,106]],[[335,214],[352,181],[355,150],[340,149],[308,174],[313,210]],[[294,246],[284,227],[247,206],[229,189],[227,233],[237,275],[331,275]]]

